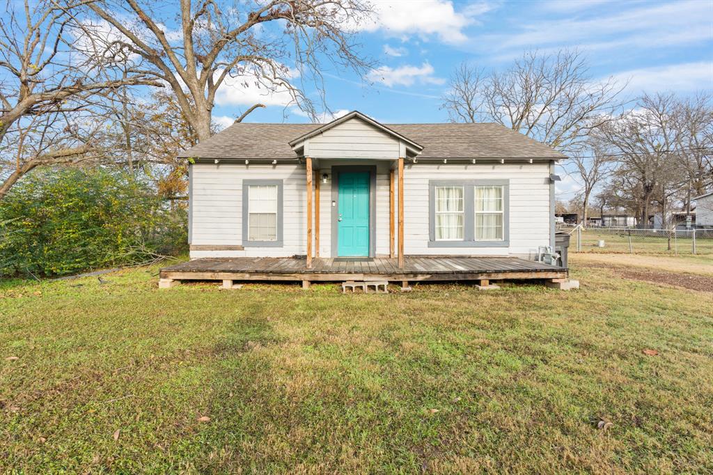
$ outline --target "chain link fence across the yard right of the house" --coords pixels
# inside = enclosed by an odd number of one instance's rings
[[[631,254],[710,255],[713,229],[661,230],[640,228],[575,228],[569,233],[570,252],[627,252]]]

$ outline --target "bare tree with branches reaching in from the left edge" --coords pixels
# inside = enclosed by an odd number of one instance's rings
[[[0,199],[38,166],[88,157],[74,113],[96,97],[128,85],[159,83],[140,71],[115,77],[103,58],[78,61],[71,54],[74,6],[51,0],[8,1],[0,21]],[[29,146],[31,145],[32,146]]]

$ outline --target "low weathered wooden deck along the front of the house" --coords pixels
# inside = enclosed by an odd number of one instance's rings
[[[515,257],[404,257],[347,261],[302,257],[202,258],[164,267],[163,280],[283,280],[329,282],[345,280],[451,281],[566,279],[568,270]]]

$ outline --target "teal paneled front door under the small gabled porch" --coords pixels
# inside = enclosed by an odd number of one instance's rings
[[[369,172],[339,173],[339,256],[369,256],[369,181]]]

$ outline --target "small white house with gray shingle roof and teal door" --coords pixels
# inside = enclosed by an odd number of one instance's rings
[[[495,123],[384,125],[356,111],[326,125],[235,123],[179,156],[191,258],[534,260],[555,245],[565,156]]]

